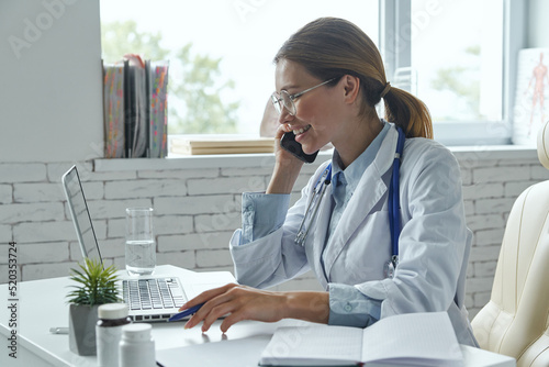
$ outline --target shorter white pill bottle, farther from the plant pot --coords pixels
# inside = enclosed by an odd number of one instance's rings
[[[150,324],[146,323],[122,326],[120,367],[156,366],[155,342],[150,336]]]

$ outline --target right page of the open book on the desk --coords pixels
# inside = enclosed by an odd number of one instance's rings
[[[462,354],[447,312],[394,315],[365,329],[362,362],[406,366],[461,366]]]

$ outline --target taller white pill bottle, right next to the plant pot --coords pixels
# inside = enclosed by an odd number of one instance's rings
[[[107,303],[98,308],[96,344],[99,367],[119,367],[119,344],[122,326],[132,322],[124,303]]]

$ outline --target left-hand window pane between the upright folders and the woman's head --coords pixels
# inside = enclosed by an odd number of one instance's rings
[[[124,53],[143,53],[145,58],[170,59],[170,134],[258,134],[274,89],[274,54],[293,32],[320,16],[348,19],[378,41],[377,0],[103,0],[103,58],[115,62]],[[135,22],[143,40],[131,35],[112,46],[116,30],[130,26],[123,25],[127,21]],[[180,52],[186,46],[183,65]],[[190,63],[200,66],[192,69]],[[203,98],[193,98],[202,92]]]

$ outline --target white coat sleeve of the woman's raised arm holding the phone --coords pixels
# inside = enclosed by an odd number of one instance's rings
[[[229,251],[235,265],[235,277],[239,283],[268,288],[310,269],[305,249],[295,244],[294,240],[306,210],[309,192],[326,165],[321,165],[309,184],[301,190],[301,198],[288,210],[281,227],[244,244],[242,244],[243,230],[235,231],[231,238]],[[243,208],[243,211],[246,210],[249,208]],[[258,224],[260,223],[254,221],[254,225]]]

